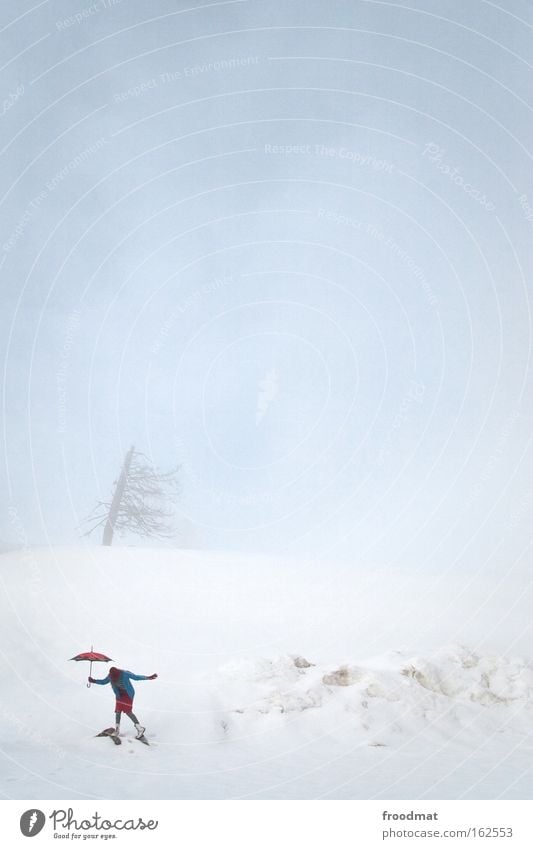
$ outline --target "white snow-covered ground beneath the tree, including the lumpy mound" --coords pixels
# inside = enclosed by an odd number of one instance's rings
[[[435,576],[134,548],[0,556],[6,798],[530,798],[526,568]],[[148,748],[93,735],[138,682]],[[529,656],[529,657],[528,657]],[[103,675],[107,665],[95,666]]]

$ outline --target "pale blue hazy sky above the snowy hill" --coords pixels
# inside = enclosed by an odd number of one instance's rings
[[[520,557],[531,5],[0,14],[0,539],[76,540],[135,443],[202,546]]]

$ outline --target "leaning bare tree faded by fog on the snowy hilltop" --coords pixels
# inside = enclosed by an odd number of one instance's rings
[[[127,452],[110,501],[98,501],[85,520],[91,524],[84,536],[103,527],[102,545],[111,545],[115,531],[141,537],[171,538],[176,534],[172,502],[179,494],[179,468],[158,471],[145,454],[132,445]]]

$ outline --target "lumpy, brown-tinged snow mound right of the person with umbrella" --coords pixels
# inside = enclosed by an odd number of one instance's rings
[[[295,714],[327,707],[357,713],[367,725],[374,716],[386,719],[387,712],[393,725],[399,717],[427,720],[473,704],[533,708],[533,667],[520,658],[481,656],[457,646],[430,657],[395,652],[376,661],[337,668],[296,665],[290,655],[240,661],[220,670],[218,686],[240,700],[232,711],[236,714]]]

